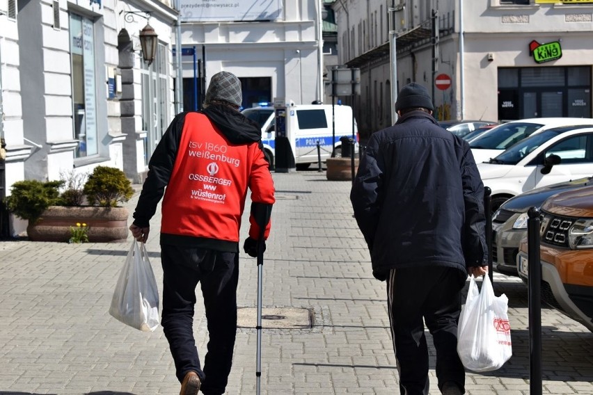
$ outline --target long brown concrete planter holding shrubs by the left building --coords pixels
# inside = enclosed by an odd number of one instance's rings
[[[50,206],[34,225],[26,228],[31,241],[59,241],[70,239],[70,227],[77,223],[88,225],[90,243],[126,241],[128,211],[125,207],[63,207]]]

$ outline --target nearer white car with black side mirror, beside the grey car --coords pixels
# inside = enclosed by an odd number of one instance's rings
[[[593,127],[558,127],[521,140],[489,163],[478,163],[491,188],[492,210],[506,200],[558,182],[593,174]]]

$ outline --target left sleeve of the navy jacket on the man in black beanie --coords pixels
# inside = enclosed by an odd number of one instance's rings
[[[350,191],[354,218],[370,251],[374,244],[384,199],[384,166],[381,163],[379,142],[375,136],[371,136]]]

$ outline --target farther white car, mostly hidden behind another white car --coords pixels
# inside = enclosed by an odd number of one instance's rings
[[[502,154],[507,148],[529,137],[553,127],[588,124],[593,127],[592,118],[529,118],[506,122],[474,138],[470,142],[475,163],[488,161]]]

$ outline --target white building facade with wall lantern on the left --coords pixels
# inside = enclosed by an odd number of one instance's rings
[[[56,180],[95,166],[135,181],[173,113],[168,1],[0,1],[0,192],[22,179]],[[157,54],[143,61],[150,23]],[[0,196],[3,198],[3,196]],[[1,235],[26,223],[0,211]]]

